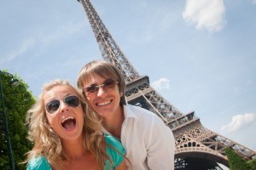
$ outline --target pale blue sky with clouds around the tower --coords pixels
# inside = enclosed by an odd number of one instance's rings
[[[255,0],[92,0],[119,48],[183,114],[256,150]],[[102,59],[76,0],[2,1],[0,69],[38,96]]]

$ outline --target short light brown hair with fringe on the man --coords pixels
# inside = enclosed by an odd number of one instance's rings
[[[79,89],[83,90],[83,84],[88,82],[90,77],[93,77],[93,75],[98,75],[106,79],[111,78],[113,79],[113,81],[119,82],[119,93],[123,94],[123,96],[120,99],[120,104],[126,105],[125,80],[116,66],[104,60],[93,60],[90,63],[84,65],[84,67],[79,72],[77,82]]]

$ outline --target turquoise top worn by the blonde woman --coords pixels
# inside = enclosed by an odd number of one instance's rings
[[[116,150],[118,150],[120,153],[125,155],[125,149],[123,145],[119,142],[118,139],[115,139],[111,135],[104,134],[104,137],[106,139],[106,143],[112,145]],[[121,156],[116,150],[109,147],[107,145],[107,153],[108,156],[113,160],[112,169],[115,167],[118,167],[119,164],[124,160],[124,157]],[[105,161],[104,170],[109,169],[109,161]],[[52,170],[52,168],[49,165],[49,162],[47,161],[45,156],[38,156],[36,158],[32,158],[30,161],[28,161],[26,170]]]

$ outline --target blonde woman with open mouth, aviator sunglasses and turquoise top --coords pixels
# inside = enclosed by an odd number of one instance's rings
[[[34,144],[27,169],[126,169],[123,146],[102,134],[100,121],[67,81],[44,85],[27,122]]]

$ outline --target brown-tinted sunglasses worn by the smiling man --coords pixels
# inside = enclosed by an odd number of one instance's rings
[[[100,84],[100,85],[92,84],[92,85],[88,86],[87,88],[84,88],[83,93],[85,92],[85,94],[87,94],[87,95],[94,94],[94,93],[98,92],[101,87],[104,89],[111,89],[111,88],[114,88],[115,85],[118,83],[119,82],[115,82],[112,79],[108,79],[105,82],[103,82],[103,84]]]

